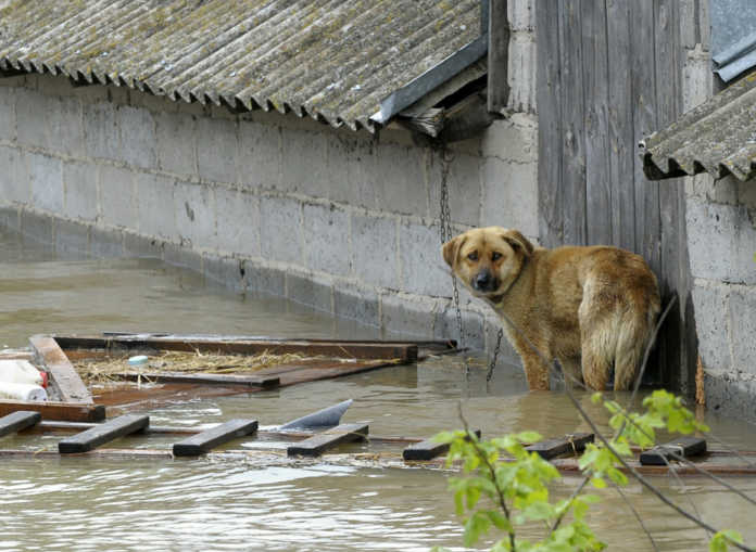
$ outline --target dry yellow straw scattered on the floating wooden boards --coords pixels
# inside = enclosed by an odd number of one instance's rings
[[[201,374],[237,374],[256,372],[264,368],[280,364],[293,364],[323,357],[286,354],[272,355],[267,351],[260,355],[224,355],[222,352],[185,352],[163,351],[149,357],[146,364],[133,367],[128,363],[131,355],[109,357],[104,359],[84,359],[74,362],[74,368],[87,386],[113,386],[123,381],[115,376],[122,372],[186,372]]]

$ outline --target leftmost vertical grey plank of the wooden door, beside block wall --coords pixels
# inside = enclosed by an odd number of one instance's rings
[[[536,8],[538,67],[538,218],[541,243],[564,243],[562,207],[562,77],[559,70],[559,17],[556,2]]]

